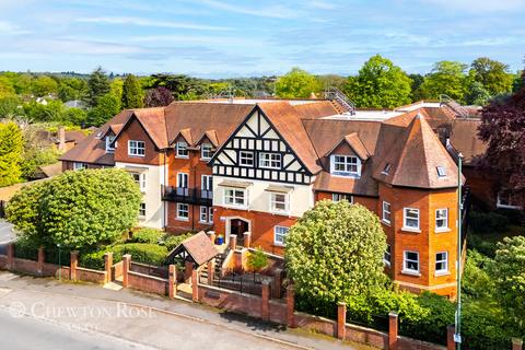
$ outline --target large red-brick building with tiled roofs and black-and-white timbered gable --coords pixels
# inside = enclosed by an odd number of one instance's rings
[[[314,100],[176,102],[121,112],[61,160],[65,170],[131,173],[144,192],[142,225],[213,229],[226,240],[250,232],[275,254],[315,201],[361,203],[381,219],[394,281],[454,298],[453,145],[469,158],[483,149],[475,135],[464,135],[465,150],[454,143],[463,119],[440,103],[384,112]]]

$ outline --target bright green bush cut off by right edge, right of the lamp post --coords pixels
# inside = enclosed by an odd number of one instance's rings
[[[490,275],[495,283],[495,296],[520,326],[525,320],[525,237],[504,237]]]

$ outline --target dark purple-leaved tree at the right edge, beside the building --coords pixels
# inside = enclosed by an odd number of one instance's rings
[[[480,170],[498,174],[501,189],[525,209],[525,86],[483,108],[478,136],[488,144]]]

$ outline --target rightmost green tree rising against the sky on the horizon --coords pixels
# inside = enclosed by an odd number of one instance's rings
[[[491,96],[509,93],[512,89],[513,77],[505,63],[480,57],[474,60],[471,71],[474,79],[480,82]]]

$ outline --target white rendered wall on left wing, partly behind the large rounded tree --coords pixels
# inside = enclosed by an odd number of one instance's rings
[[[115,167],[144,168],[145,190],[143,202],[145,203],[145,218],[139,218],[139,225],[152,229],[164,229],[164,201],[162,200],[161,185],[164,184],[166,167],[164,165],[148,165],[136,163],[116,162]]]

